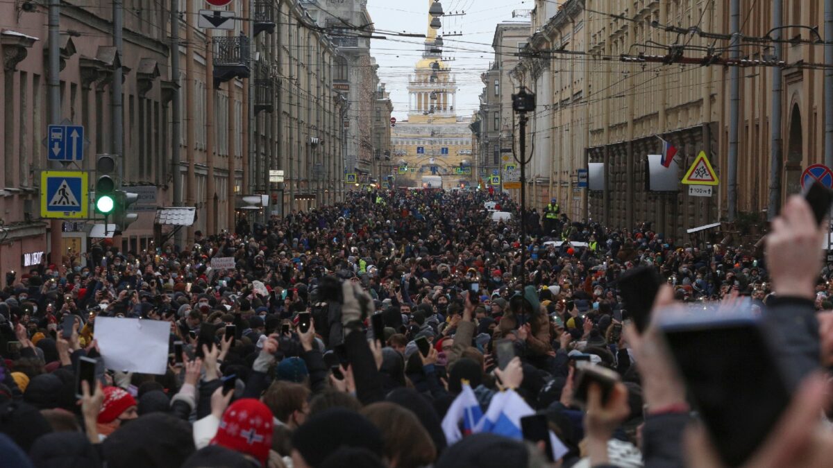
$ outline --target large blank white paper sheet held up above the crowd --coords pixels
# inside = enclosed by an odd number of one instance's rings
[[[95,339],[113,371],[162,375],[167,370],[171,322],[97,317]]]

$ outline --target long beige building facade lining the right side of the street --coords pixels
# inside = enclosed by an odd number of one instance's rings
[[[548,198],[556,198],[571,219],[610,227],[651,222],[656,232],[676,238],[684,237],[686,229],[725,220],[732,67],[669,60],[665,46],[685,44],[681,55],[691,58],[706,57],[709,47],[716,47],[725,58],[729,41],[678,36],[662,25],[727,34],[730,3],[537,0],[528,46],[512,75],[537,97],[527,127],[527,141],[536,147],[527,200],[542,207]],[[744,36],[764,37],[771,31],[772,2],[742,0],[740,8]],[[823,12],[821,0],[784,2],[782,23],[821,27]],[[786,28],[783,35],[813,38],[806,28]],[[741,57],[765,59],[771,56],[771,45],[745,42]],[[799,191],[804,168],[823,162],[823,71],[801,65],[823,62],[823,47],[804,42],[782,47],[785,67],[740,69],[737,211],[739,218],[753,222],[766,220],[773,72],[783,77],[784,150],[776,171],[781,175],[780,202]],[[640,54],[666,56],[666,61]],[[624,62],[623,55],[636,59]],[[662,140],[678,150],[680,179],[697,154],[706,152],[721,181],[712,197],[691,197],[686,186],[678,192],[647,190],[646,159],[661,154]],[[578,171],[588,163],[604,164],[604,190],[577,187]]]

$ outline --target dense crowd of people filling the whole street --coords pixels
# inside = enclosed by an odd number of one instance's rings
[[[495,207],[513,216],[493,221]],[[555,207],[521,213],[488,192],[352,192],[241,220],[234,233],[197,232],[184,249],[100,243],[62,265],[4,272],[0,466],[716,466],[725,460],[693,424],[657,316],[743,296],[776,324],[779,359],[801,370],[749,460],[826,463],[819,373],[833,363],[833,286],[806,202],[787,203],[766,255],[649,224],[575,222]],[[219,258],[234,267],[213,268]],[[618,287],[638,267],[663,283],[642,331]],[[167,371],[106,369],[100,317],[169,321]],[[501,344],[515,357],[501,362]],[[95,385],[79,392],[90,359]],[[585,362],[616,384],[591,384],[577,401]],[[552,443],[525,440],[516,407],[546,416]]]

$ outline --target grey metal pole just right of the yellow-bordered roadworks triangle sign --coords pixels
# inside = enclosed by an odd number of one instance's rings
[[[730,12],[731,58],[741,57],[741,0],[731,0]],[[731,89],[729,104],[729,191],[727,194],[727,218],[734,222],[737,215],[737,140],[738,119],[741,114],[741,68],[730,68]]]

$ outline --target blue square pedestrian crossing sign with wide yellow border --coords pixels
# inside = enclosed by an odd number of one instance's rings
[[[88,206],[87,172],[41,172],[41,217],[84,219]]]

